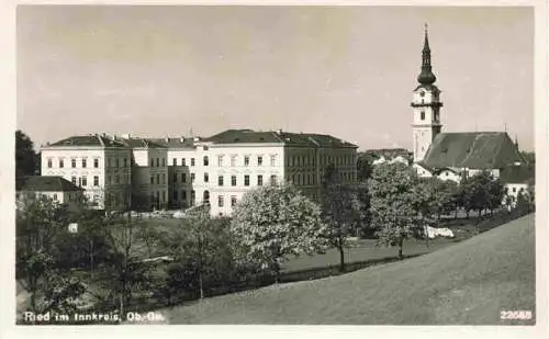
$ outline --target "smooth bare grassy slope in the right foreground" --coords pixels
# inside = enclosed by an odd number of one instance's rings
[[[534,215],[529,215],[403,262],[209,298],[161,313],[170,324],[512,324],[500,320],[500,310],[534,310]]]

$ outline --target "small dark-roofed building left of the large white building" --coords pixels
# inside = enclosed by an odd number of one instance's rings
[[[15,196],[18,201],[47,196],[54,202],[72,207],[82,201],[83,189],[61,177],[22,177],[15,180]]]

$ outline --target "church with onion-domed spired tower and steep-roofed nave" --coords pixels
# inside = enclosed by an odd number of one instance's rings
[[[526,190],[534,176],[520,156],[518,144],[506,132],[442,133],[440,90],[430,63],[427,26],[422,50],[418,86],[413,91],[413,167],[419,177],[460,182],[468,176],[490,171],[509,195]]]

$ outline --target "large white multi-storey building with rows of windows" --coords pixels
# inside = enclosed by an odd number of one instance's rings
[[[70,178],[101,207],[120,202],[157,208],[205,203],[212,214],[229,215],[246,191],[269,183],[289,182],[320,199],[329,163],[343,182],[355,182],[356,150],[357,146],[329,135],[282,131],[227,129],[208,138],[90,135],[44,147],[42,173]],[[66,168],[65,159],[77,166]],[[82,159],[93,159],[91,171],[78,166]],[[100,192],[112,199],[101,200]]]

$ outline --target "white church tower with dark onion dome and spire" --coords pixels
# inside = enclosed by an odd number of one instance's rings
[[[414,162],[422,161],[435,136],[440,133],[440,90],[434,84],[437,78],[430,66],[430,48],[425,24],[425,42],[422,52],[422,72],[417,77],[419,84],[414,90],[412,109],[414,111]]]

